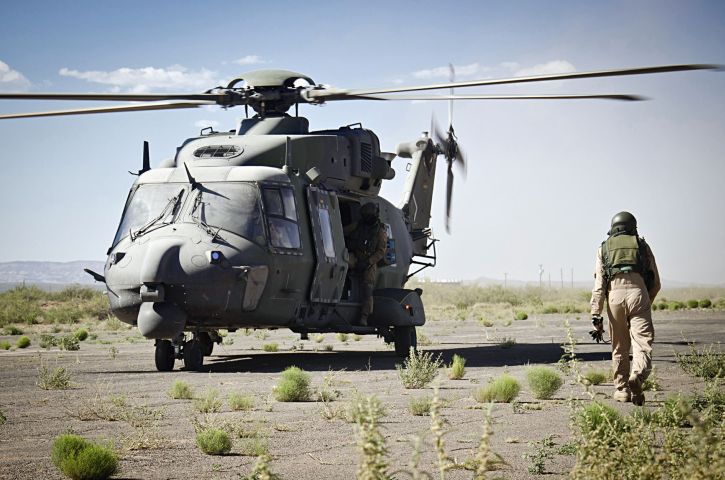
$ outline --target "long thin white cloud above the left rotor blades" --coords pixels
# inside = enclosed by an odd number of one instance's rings
[[[203,91],[220,83],[217,72],[205,68],[192,71],[181,65],[172,65],[168,68],[123,67],[112,71],[89,70],[85,72],[64,67],[58,73],[64,77],[108,85],[112,91],[133,93],[143,93],[152,89]]]

